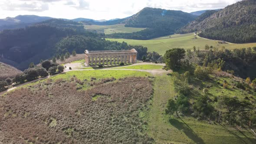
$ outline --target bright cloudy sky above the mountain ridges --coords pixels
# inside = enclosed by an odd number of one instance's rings
[[[241,0],[0,0],[0,19],[17,15],[110,20],[131,16],[144,7],[182,10],[224,8]]]

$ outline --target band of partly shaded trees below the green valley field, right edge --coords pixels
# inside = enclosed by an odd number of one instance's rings
[[[256,78],[255,61],[256,61],[256,48],[243,48],[243,49],[223,49],[221,50],[196,50],[192,52],[193,59],[198,58],[197,63],[203,66],[212,67],[224,71],[233,71],[234,75],[238,75],[243,79],[250,77]]]

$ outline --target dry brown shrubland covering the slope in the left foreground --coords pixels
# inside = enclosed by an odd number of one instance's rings
[[[139,110],[148,105],[147,78],[102,79],[87,91],[74,81],[45,82],[0,97],[0,142],[35,144],[151,143]],[[108,82],[108,83],[106,83]],[[52,95],[49,97],[48,95]],[[106,95],[92,101],[92,97]],[[56,121],[54,121],[56,120]]]

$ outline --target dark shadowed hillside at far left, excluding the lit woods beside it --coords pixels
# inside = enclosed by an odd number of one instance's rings
[[[0,32],[0,61],[25,69],[30,62],[39,62],[53,55],[53,47],[62,37],[75,35],[74,29],[49,25]]]

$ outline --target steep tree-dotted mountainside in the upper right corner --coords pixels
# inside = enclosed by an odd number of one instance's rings
[[[209,39],[231,43],[256,42],[256,0],[243,0],[227,6],[193,28],[201,31],[199,36]]]

